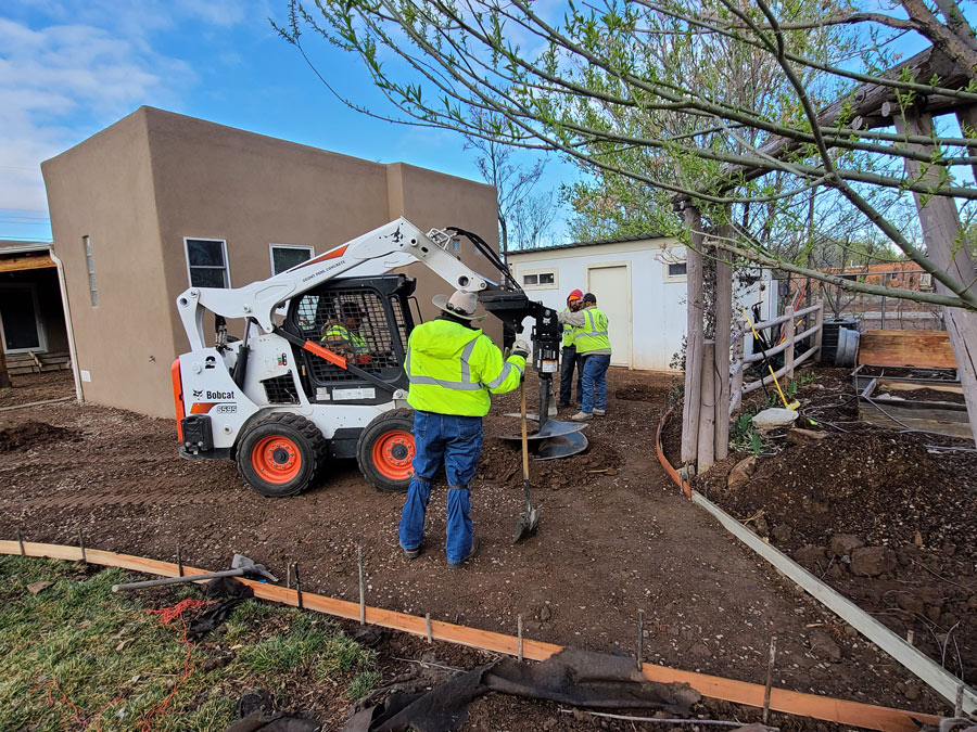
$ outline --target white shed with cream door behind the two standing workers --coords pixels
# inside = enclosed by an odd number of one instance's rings
[[[580,288],[607,313],[611,364],[663,371],[685,335],[685,247],[656,234],[510,252],[509,267],[533,298],[557,310]],[[776,288],[769,270],[734,274],[734,303],[763,299],[771,317]]]

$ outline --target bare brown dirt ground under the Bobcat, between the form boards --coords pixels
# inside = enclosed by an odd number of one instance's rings
[[[67,386],[53,384],[53,393],[69,393],[69,374],[62,378]],[[531,404],[535,384],[531,377]],[[518,545],[511,536],[522,509],[519,452],[494,439],[518,431],[517,420],[502,416],[518,409],[518,393],[497,398],[472,486],[483,543],[462,572],[445,564],[443,486],[432,497],[427,551],[409,562],[396,541],[403,497],[369,487],[352,462],[337,463],[303,496],[266,499],[242,484],[230,462],[180,460],[170,421],[74,402],[0,412],[5,435],[31,422],[66,431],[0,451],[0,537],[20,528],[27,540],[75,543],[80,529],[90,547],[173,561],[181,544],[186,562],[211,568],[228,565],[237,551],[279,575],[300,562],[304,589],[347,600],[358,598],[361,545],[367,602],[380,607],[513,634],[522,615],[529,638],[629,654],[643,609],[646,660],[763,683],[775,634],[777,685],[944,710],[925,691],[906,702],[897,685],[911,684],[910,675],[676,492],[654,448],[671,385],[668,377],[611,370],[608,416],[588,427],[588,451],[533,462],[543,523]],[[811,652],[812,632],[825,629],[841,651],[837,663]],[[409,657],[422,647],[413,639],[391,643]],[[469,666],[479,658],[446,646],[439,653]],[[528,729],[531,719],[534,729],[592,725],[551,706],[528,717],[525,702],[494,704],[475,705],[470,729]],[[484,705],[495,717],[480,727]]]

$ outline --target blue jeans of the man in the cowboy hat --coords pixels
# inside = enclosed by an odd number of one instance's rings
[[[397,535],[403,549],[417,549],[424,536],[424,515],[431,497],[431,480],[444,465],[448,483],[448,562],[457,564],[471,549],[471,491],[482,453],[482,418],[416,411],[414,413],[414,477],[401,512]]]

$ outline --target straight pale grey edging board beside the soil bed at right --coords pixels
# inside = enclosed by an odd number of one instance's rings
[[[903,668],[914,673],[950,704],[956,701],[956,692],[963,685],[964,711],[972,714],[977,710],[977,690],[963,684],[960,679],[939,666],[929,656],[906,643],[851,600],[822,582],[789,556],[763,541],[705,496],[693,491],[693,502],[706,509],[727,531],[770,562],[777,572],[803,588],[808,594],[888,653]]]

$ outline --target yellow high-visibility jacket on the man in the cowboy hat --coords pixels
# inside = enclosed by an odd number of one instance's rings
[[[424,412],[485,416],[492,406],[488,393],[516,389],[524,369],[522,356],[503,360],[482,331],[432,320],[415,328],[407,343],[407,403]]]

